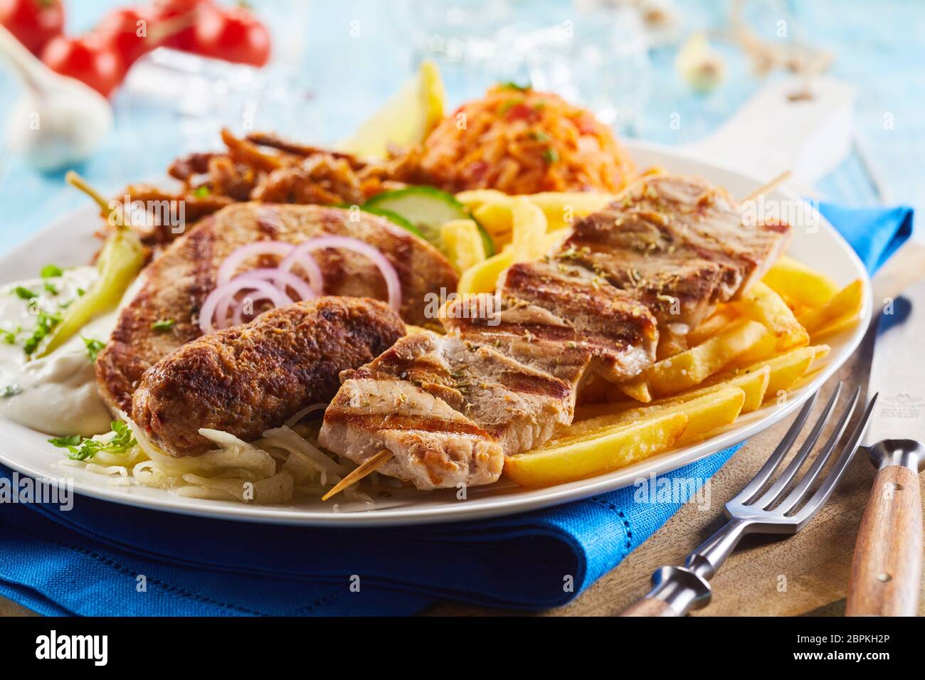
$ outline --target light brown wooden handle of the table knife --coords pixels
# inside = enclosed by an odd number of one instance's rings
[[[902,465],[877,473],[857,532],[847,616],[915,616],[922,571],[919,475]]]

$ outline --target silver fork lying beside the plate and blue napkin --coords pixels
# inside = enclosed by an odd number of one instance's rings
[[[813,515],[829,500],[835,485],[845,473],[845,468],[857,451],[857,442],[867,428],[871,408],[877,401],[877,395],[874,395],[857,427],[838,452],[832,470],[806,501],[809,487],[820,476],[820,471],[832,457],[835,447],[845,434],[848,421],[855,412],[860,388],[855,389],[816,460],[810,465],[806,475],[786,493],[787,486],[808,459],[816,440],[820,438],[822,430],[829,422],[841,392],[842,383],[838,383],[796,456],[783,469],[781,476],[768,486],[771,477],[783,463],[787,451],[790,451],[797,435],[806,424],[817,395],[813,394],[808,399],[781,443],[771,453],[768,462],[762,465],[758,475],[746,488],[739,491],[732,501],[726,503],[725,514],[729,517],[729,522],[688,555],[685,566],[665,566],[653,574],[652,589],[648,595],[630,606],[622,616],[684,616],[691,610],[706,607],[712,594],[709,579],[720,569],[740,538],[746,534],[796,534],[808,525]],[[802,501],[806,503],[795,511]]]

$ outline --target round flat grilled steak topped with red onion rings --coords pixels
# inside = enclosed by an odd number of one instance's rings
[[[128,411],[144,371],[200,337],[199,307],[216,287],[218,267],[230,253],[254,241],[300,243],[327,234],[365,241],[388,258],[401,280],[401,317],[409,323],[425,321],[428,292],[456,289],[456,273],[436,248],[382,217],[320,205],[234,204],[171,243],[142,272],[141,290],[122,310],[96,362],[105,401]],[[387,299],[385,281],[364,256],[341,250],[316,251],[314,256],[326,294]],[[275,266],[277,261],[254,257],[240,271]],[[174,321],[171,328],[153,328],[164,319]]]

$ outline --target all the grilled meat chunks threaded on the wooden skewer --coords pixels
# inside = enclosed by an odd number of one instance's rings
[[[500,455],[571,424],[586,377],[640,373],[655,361],[657,323],[683,336],[759,278],[788,236],[747,227],[703,180],[640,180],[544,261],[510,267],[497,295],[447,304],[447,336],[404,338],[353,374],[321,443],[356,463],[388,449],[379,469],[417,488],[495,481]],[[497,379],[502,364],[529,372],[516,381],[525,389]]]

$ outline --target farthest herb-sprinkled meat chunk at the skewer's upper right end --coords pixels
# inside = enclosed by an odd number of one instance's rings
[[[646,304],[685,334],[761,278],[783,253],[786,225],[746,226],[742,210],[703,179],[641,179],[575,225],[561,255]]]

